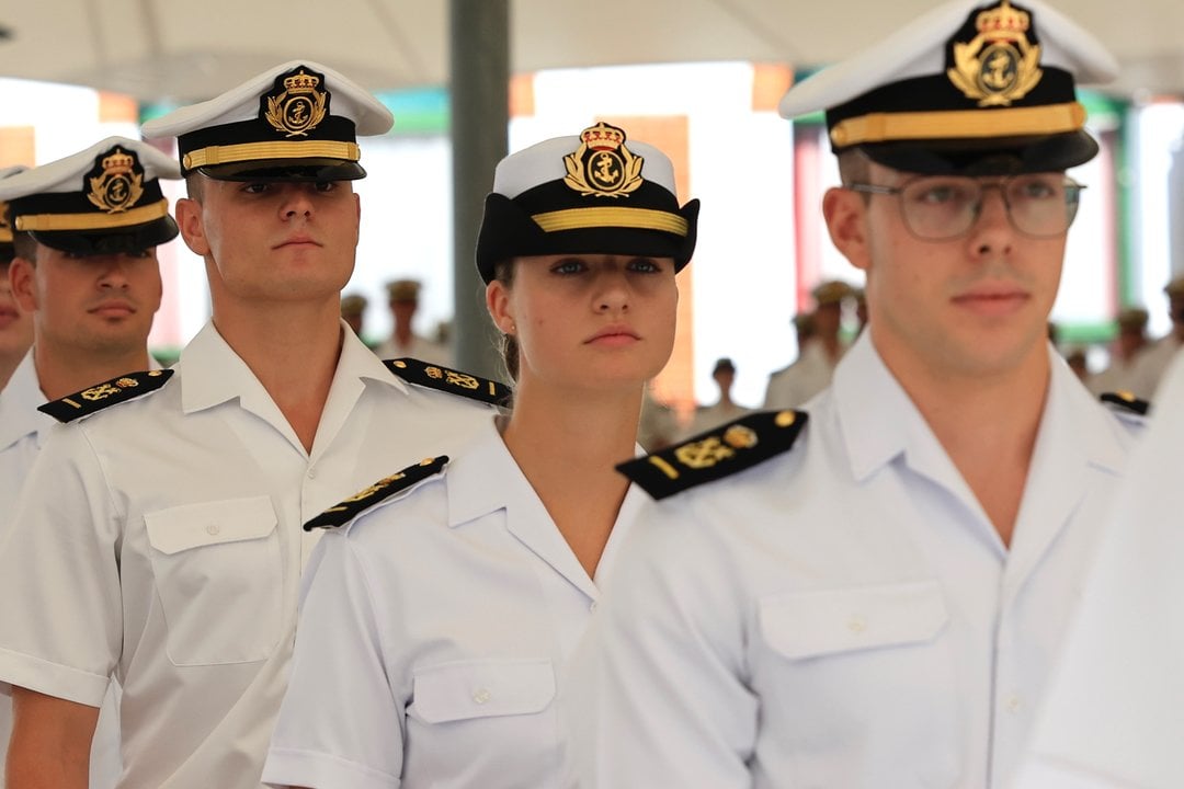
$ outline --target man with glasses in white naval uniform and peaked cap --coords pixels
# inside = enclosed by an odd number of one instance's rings
[[[826,110],[870,322],[799,438],[770,413],[626,464],[704,484],[600,606],[587,787],[1008,785],[1138,429],[1047,339],[1098,150],[1074,80],[1112,70],[1043,5],[958,0],[786,95]]]

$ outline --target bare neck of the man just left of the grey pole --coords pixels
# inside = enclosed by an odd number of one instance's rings
[[[218,308],[215,303],[218,332],[251,368],[310,452],[341,355],[336,303],[251,305],[250,313]]]

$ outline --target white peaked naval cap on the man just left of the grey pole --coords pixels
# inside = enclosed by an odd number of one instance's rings
[[[368,91],[328,66],[292,60],[221,96],[182,106],[143,125],[153,137],[176,137],[184,175],[221,181],[353,181],[359,136],[394,124]]]

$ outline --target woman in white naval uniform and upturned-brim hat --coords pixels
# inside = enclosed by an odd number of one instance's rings
[[[476,257],[513,413],[310,524],[330,531],[266,782],[560,782],[564,667],[644,499],[613,466],[674,345],[697,213],[605,123],[497,166]]]

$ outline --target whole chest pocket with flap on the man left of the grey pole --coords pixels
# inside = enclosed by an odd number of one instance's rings
[[[283,615],[277,524],[266,496],[144,513],[174,665],[251,662],[275,651]]]

